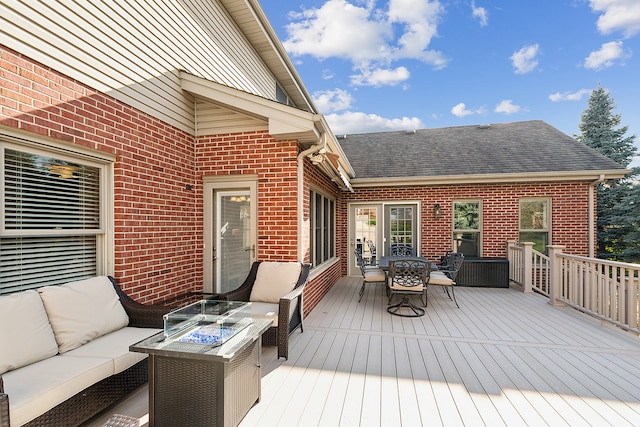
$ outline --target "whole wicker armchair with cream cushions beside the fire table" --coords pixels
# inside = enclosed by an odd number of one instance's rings
[[[254,317],[267,317],[273,325],[262,336],[264,345],[278,346],[278,358],[289,357],[289,335],[303,331],[302,293],[309,277],[309,264],[299,262],[254,262],[244,283],[236,290],[213,298],[251,302]]]

